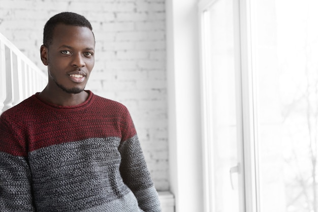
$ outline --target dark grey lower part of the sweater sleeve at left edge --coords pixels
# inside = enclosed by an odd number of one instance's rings
[[[25,158],[0,152],[0,211],[34,211]]]

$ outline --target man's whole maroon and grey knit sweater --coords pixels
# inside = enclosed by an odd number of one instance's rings
[[[90,91],[76,106],[38,94],[0,118],[0,211],[160,211],[129,111]]]

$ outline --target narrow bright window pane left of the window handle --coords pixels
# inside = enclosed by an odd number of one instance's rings
[[[205,81],[210,122],[212,210],[235,212],[238,205],[237,131],[235,103],[234,26],[232,0],[216,1],[205,11]]]

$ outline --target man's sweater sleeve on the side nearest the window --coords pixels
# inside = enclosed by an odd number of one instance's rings
[[[138,200],[139,207],[146,212],[161,211],[158,194],[154,188],[144,159],[137,134],[127,135],[136,132],[131,116],[127,112],[128,123],[125,127],[125,136],[128,139],[122,140],[118,149],[121,155],[120,174],[124,184],[134,193]],[[132,129],[133,128],[133,129]]]

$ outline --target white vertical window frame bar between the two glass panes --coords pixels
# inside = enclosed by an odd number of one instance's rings
[[[242,87],[242,124],[244,155],[245,210],[260,212],[259,171],[257,152],[257,94],[256,77],[253,68],[255,61],[252,47],[252,1],[242,0],[240,8],[240,52],[241,52],[241,87]]]

